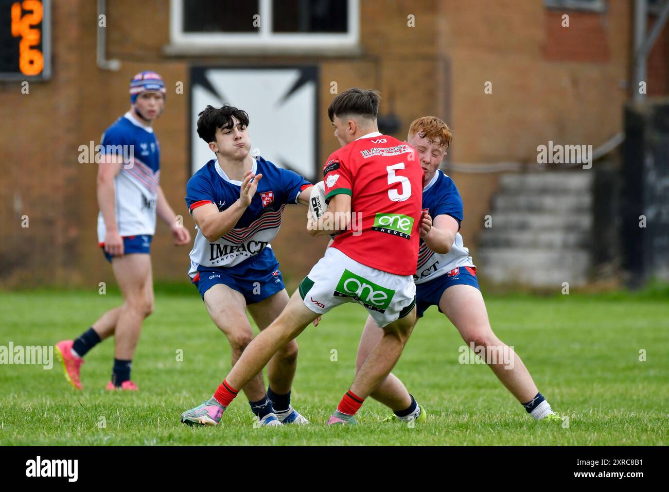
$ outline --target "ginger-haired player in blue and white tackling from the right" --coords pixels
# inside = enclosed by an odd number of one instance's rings
[[[460,332],[467,345],[473,344],[492,372],[538,420],[561,420],[537,390],[520,357],[490,328],[486,305],[476,278],[476,266],[460,236],[462,199],[453,180],[439,169],[452,140],[448,125],[435,116],[423,116],[411,123],[407,143],[418,152],[423,170],[423,220],[420,228],[416,282],[417,318],[430,306],[438,307]],[[427,214],[427,215],[425,215]],[[356,359],[357,370],[383,337],[372,317],[367,318]],[[492,354],[492,352],[496,352]],[[506,357],[504,357],[506,355]],[[393,414],[385,421],[422,420],[423,408],[394,374],[375,388],[372,398]]]

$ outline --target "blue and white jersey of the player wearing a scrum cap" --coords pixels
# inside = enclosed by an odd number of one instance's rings
[[[106,155],[124,155],[128,161],[114,177],[116,226],[120,236],[153,236],[156,202],[161,176],[161,152],[153,128],[145,127],[126,112],[102,134]],[[106,227],[98,213],[98,243],[104,242]]]

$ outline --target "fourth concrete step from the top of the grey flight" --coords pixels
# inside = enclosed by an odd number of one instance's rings
[[[506,230],[490,228],[479,236],[482,248],[587,248],[591,242],[586,230]]]

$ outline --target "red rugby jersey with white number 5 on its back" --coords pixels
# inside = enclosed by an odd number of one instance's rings
[[[377,270],[413,275],[423,195],[415,149],[369,133],[330,154],[323,176],[326,202],[339,193],[351,195],[352,225],[332,248]]]

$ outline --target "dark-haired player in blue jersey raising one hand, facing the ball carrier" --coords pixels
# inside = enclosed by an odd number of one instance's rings
[[[308,205],[312,187],[297,173],[252,157],[248,125],[248,114],[227,104],[199,113],[197,135],[215,158],[191,177],[186,192],[197,226],[189,276],[230,343],[233,365],[254,337],[246,311],[263,330],[288,304],[270,242],[286,204]],[[267,391],[262,372],[242,388],[260,425],[308,424],[290,404],[297,353],[292,340],[272,357]],[[216,425],[221,413],[219,404],[205,401],[181,422]]]

